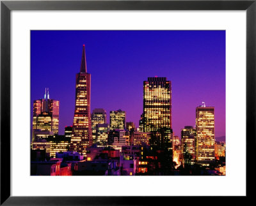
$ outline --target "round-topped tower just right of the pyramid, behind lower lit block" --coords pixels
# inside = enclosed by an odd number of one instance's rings
[[[96,127],[97,124],[107,123],[107,113],[103,108],[95,108],[92,111],[92,138],[93,143],[96,143]]]

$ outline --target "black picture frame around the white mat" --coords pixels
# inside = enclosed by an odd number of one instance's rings
[[[191,196],[125,197],[115,196],[115,193],[108,197],[10,196],[10,12],[12,10],[246,10],[246,196],[232,196],[232,198],[237,203],[244,203],[244,200],[253,198],[253,191],[255,191],[253,187],[255,184],[253,152],[256,151],[256,0],[1,1],[1,205],[151,205],[156,201],[161,205],[165,204],[164,202],[170,204],[189,203],[191,198],[195,198]],[[239,129],[239,126],[234,125],[234,128]],[[207,202],[220,204],[221,202],[216,198],[223,202],[226,197],[208,196]]]

